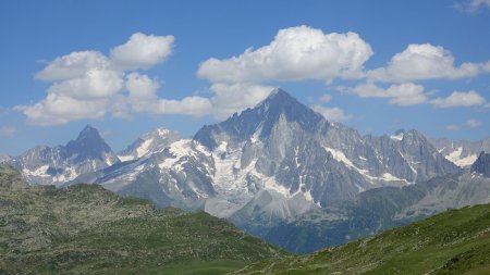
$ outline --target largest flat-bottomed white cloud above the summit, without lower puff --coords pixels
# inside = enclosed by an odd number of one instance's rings
[[[209,59],[197,75],[211,83],[264,83],[268,80],[355,77],[372,50],[357,34],[323,34],[297,26],[279,30],[267,46],[245,50],[238,57]]]

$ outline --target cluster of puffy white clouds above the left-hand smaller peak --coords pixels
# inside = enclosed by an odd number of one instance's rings
[[[159,98],[160,84],[134,70],[149,68],[172,52],[173,36],[136,33],[111,50],[72,52],[48,63],[36,78],[51,83],[47,97],[30,105],[17,105],[36,125],[65,124],[76,120],[130,117],[134,112],[204,115],[211,113],[207,98]]]

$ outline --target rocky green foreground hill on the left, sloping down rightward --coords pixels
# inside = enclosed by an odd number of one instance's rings
[[[282,254],[225,220],[0,166],[0,274],[220,274]]]

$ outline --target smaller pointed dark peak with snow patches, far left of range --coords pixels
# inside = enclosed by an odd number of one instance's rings
[[[111,166],[119,159],[97,129],[87,125],[66,146],[38,146],[7,162],[21,171],[30,185],[61,185]]]

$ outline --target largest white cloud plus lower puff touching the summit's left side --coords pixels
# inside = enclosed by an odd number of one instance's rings
[[[362,77],[371,55],[370,46],[355,33],[324,34],[296,26],[280,29],[269,45],[258,49],[208,59],[197,75],[211,83],[213,115],[224,118],[264,100],[274,88],[270,82]]]

